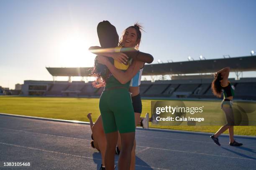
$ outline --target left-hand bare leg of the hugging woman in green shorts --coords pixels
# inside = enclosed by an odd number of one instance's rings
[[[106,170],[114,170],[115,168],[115,146],[118,140],[118,131],[113,133],[106,133],[107,148],[105,153],[105,167]],[[121,151],[122,153],[122,151]],[[120,153],[120,155],[121,155]],[[119,157],[120,159],[120,157]],[[119,165],[119,161],[118,161]],[[119,168],[118,168],[119,169]],[[123,170],[120,168],[120,170]]]

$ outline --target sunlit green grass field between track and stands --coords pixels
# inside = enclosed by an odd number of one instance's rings
[[[184,101],[186,106],[204,105],[205,112],[215,114],[220,110],[220,101]],[[244,104],[245,102],[241,102]],[[250,102],[255,108],[256,103]],[[151,100],[142,100],[142,115],[151,112]],[[0,112],[15,115],[27,115],[36,117],[47,117],[64,120],[88,121],[86,115],[92,112],[92,119],[95,121],[100,115],[99,99],[97,98],[67,98],[67,97],[10,97],[0,96]],[[253,113],[256,111],[254,110]],[[254,114],[255,115],[255,114]],[[152,128],[165,128],[173,130],[188,130],[198,132],[215,133],[220,126],[153,126]],[[235,126],[237,135],[256,135],[256,126]],[[225,132],[227,133],[227,131]]]

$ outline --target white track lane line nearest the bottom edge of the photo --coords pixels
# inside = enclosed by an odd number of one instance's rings
[[[86,159],[92,159],[92,160],[102,160],[102,159],[99,159],[99,158],[92,158],[92,157],[74,155],[74,154],[69,154],[69,153],[60,153],[60,152],[56,152],[56,151],[52,151],[52,150],[44,150],[44,149],[38,149],[38,148],[31,148],[31,147],[26,147],[26,146],[21,146],[21,145],[14,145],[14,144],[10,144],[10,143],[2,143],[2,142],[0,142],[0,144],[2,144],[2,145],[9,145],[9,146],[15,146],[15,147],[19,147],[19,148],[25,148],[25,149],[31,149],[31,150],[39,150],[39,151],[48,152],[48,153],[56,153],[56,154],[61,154],[61,155],[66,155],[66,156],[74,156],[74,157],[78,157],[78,158],[86,158]],[[115,163],[118,163],[118,162],[115,162]],[[156,167],[148,167],[148,166],[143,166],[143,165],[135,165],[135,166],[144,167],[144,168],[154,168],[154,169],[157,169],[157,170],[168,170],[168,169],[156,168]]]

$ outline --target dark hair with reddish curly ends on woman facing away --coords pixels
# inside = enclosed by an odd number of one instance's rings
[[[111,48],[118,46],[118,33],[115,29],[115,26],[112,25],[109,21],[102,21],[97,26],[98,38],[100,41],[100,46],[102,48]],[[108,57],[110,62],[114,60]],[[108,67],[100,64],[95,57],[94,68],[92,69],[91,75],[96,77],[96,80],[92,82],[92,86],[96,88],[104,87],[108,78],[110,77],[111,72],[108,70]]]

